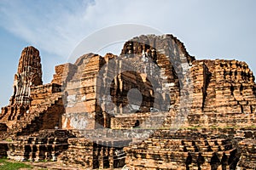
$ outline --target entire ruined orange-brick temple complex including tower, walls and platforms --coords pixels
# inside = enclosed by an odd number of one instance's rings
[[[243,61],[197,60],[172,35],[84,54],[42,81],[24,48],[0,114],[1,156],[125,169],[256,169],[256,84]],[[11,88],[11,87],[10,87]]]

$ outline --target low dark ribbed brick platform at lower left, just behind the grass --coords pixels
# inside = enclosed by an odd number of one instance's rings
[[[67,150],[67,139],[73,137],[66,131],[44,130],[31,137],[19,137],[9,143],[8,156],[15,161],[56,161]]]

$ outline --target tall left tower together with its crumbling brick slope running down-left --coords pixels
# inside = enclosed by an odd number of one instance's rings
[[[42,85],[42,66],[39,51],[32,46],[21,52],[18,71],[15,74],[14,94],[9,99],[9,105],[2,108],[1,122],[9,127],[23,116],[31,103],[32,86]]]

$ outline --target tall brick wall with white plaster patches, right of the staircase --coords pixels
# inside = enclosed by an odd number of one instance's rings
[[[104,59],[96,54],[85,54],[74,65],[77,71],[64,87],[66,113],[62,115],[65,129],[97,127],[96,117],[102,115],[96,110],[96,75]],[[102,124],[102,122],[99,122]]]

